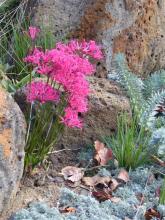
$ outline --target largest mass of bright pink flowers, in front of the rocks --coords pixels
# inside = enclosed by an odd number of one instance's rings
[[[89,83],[85,77],[95,72],[95,67],[90,63],[89,58],[99,60],[102,57],[101,48],[96,45],[95,41],[79,43],[77,40],[73,40],[68,44],[58,43],[54,49],[45,52],[35,48],[24,61],[31,63],[35,68],[37,67],[39,74],[44,74],[62,85],[67,97],[67,107],[62,122],[69,127],[81,128],[82,121],[79,113],[85,113],[88,110]],[[38,89],[41,92],[42,89],[39,87]],[[34,91],[37,92],[37,88],[33,88],[31,94]],[[48,100],[53,97],[53,92],[50,91],[51,95]],[[35,95],[31,95],[28,101],[35,99],[39,100]]]

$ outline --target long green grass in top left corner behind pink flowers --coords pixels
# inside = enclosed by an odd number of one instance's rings
[[[33,77],[31,68],[23,62],[23,58],[34,46],[27,34],[30,20],[25,16],[26,6],[27,1],[7,0],[0,7],[0,60],[3,65],[7,63],[11,67],[12,74],[3,78],[3,86],[9,92],[15,92],[21,85],[25,85],[29,77]],[[55,43],[53,33],[42,27],[35,45],[46,50],[54,47]]]

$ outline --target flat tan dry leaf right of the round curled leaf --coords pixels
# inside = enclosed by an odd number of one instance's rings
[[[82,181],[86,186],[94,187],[98,184],[108,185],[111,181],[111,177],[102,177],[99,175],[95,175],[93,177],[83,177]]]

